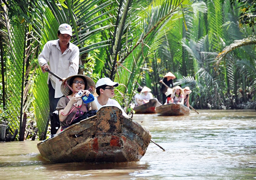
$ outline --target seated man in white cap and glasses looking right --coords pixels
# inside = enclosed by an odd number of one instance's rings
[[[104,105],[115,105],[119,109],[123,111],[123,114],[127,117],[129,117],[123,108],[120,106],[120,104],[111,98],[114,97],[115,92],[114,88],[117,87],[119,84],[116,82],[113,82],[108,77],[103,77],[99,79],[96,83],[96,93],[99,95],[98,97],[95,97],[94,102],[97,105],[97,108],[100,109]]]

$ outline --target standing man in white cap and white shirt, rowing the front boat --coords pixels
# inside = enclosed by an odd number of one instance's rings
[[[61,24],[58,29],[57,40],[46,42],[42,52],[38,56],[38,62],[43,72],[45,68],[51,70],[61,78],[67,78],[78,73],[79,48],[69,42],[72,36],[72,28],[69,24]],[[48,74],[50,113],[56,110],[60,97],[63,96],[60,90],[61,81],[51,74]]]

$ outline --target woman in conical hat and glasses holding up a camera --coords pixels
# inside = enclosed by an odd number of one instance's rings
[[[77,96],[76,94],[79,91],[82,91],[83,94]],[[56,107],[59,111],[61,130],[70,126],[73,120],[77,119],[85,112],[97,110],[97,105],[94,101],[87,104],[82,101],[82,96],[88,96],[94,91],[94,81],[85,75],[70,76],[62,82],[61,92],[65,96],[60,98]]]

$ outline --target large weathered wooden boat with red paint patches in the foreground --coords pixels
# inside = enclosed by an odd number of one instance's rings
[[[37,144],[40,154],[54,163],[139,161],[151,134],[124,116],[116,106],[104,106],[53,138]]]

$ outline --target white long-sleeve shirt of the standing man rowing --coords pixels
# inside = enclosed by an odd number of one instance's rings
[[[76,75],[79,68],[79,48],[69,42],[68,49],[62,54],[59,47],[59,39],[48,41],[38,56],[38,63],[43,66],[48,62],[51,71],[61,78]],[[50,73],[48,73],[49,79],[51,79],[52,86],[55,89],[54,97],[63,96],[60,90],[61,81]]]

